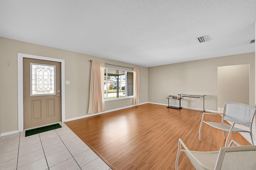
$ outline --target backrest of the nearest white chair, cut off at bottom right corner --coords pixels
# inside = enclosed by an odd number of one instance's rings
[[[256,146],[221,147],[215,170],[254,170]]]

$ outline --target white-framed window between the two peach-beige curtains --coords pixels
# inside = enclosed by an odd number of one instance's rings
[[[105,67],[104,98],[106,100],[133,97],[133,71]]]

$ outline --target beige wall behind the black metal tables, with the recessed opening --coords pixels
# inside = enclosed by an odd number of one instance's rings
[[[168,104],[166,97],[170,94],[205,94],[205,109],[217,111],[218,66],[250,64],[249,104],[255,106],[254,58],[254,53],[246,53],[149,67],[148,102]],[[171,100],[170,104],[178,105],[178,102]],[[181,104],[184,107],[190,107],[189,102],[185,99],[181,100]],[[194,107],[202,109],[202,100],[200,99]]]

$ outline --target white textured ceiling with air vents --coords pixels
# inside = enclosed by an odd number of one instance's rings
[[[0,0],[1,37],[141,66],[254,52],[255,21],[256,0]]]

